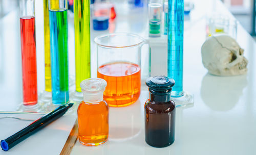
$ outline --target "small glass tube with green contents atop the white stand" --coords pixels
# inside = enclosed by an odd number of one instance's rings
[[[148,4],[149,37],[160,37],[162,4],[152,1]]]

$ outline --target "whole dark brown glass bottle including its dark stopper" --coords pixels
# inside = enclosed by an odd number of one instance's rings
[[[154,147],[166,147],[175,140],[175,103],[170,92],[175,82],[165,76],[146,81],[150,99],[145,103],[145,141]]]

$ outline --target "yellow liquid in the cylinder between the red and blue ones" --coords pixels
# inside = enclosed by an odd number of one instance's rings
[[[50,25],[49,25],[49,3],[44,0],[44,33],[45,33],[45,90],[52,91],[51,81],[51,56],[50,56]]]

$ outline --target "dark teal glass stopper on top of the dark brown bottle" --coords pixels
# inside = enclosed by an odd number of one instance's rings
[[[153,94],[170,93],[174,84],[175,81],[166,76],[154,76],[146,80],[146,85]]]

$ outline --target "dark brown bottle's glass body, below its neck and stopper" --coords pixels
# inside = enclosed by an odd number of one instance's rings
[[[144,112],[146,143],[154,147],[166,147],[173,144],[175,140],[174,101],[155,102],[147,100]]]

